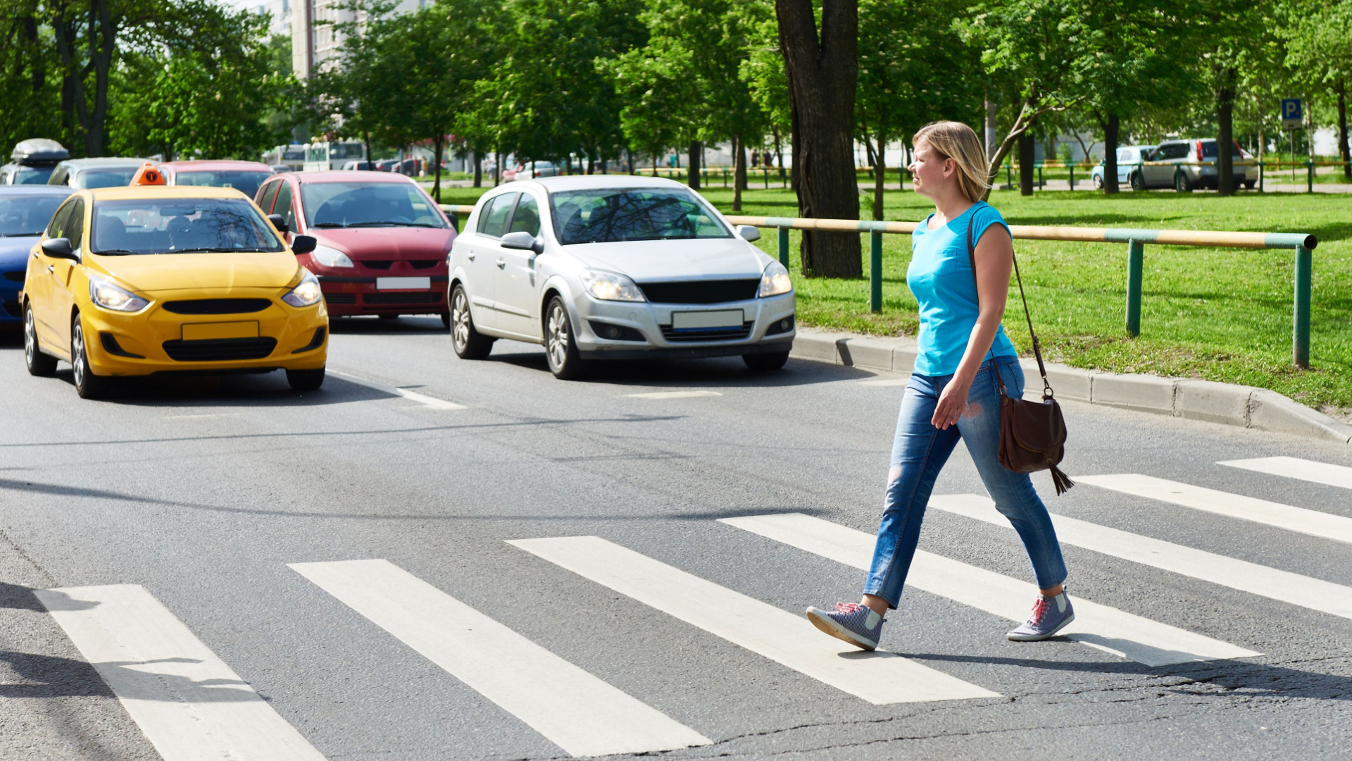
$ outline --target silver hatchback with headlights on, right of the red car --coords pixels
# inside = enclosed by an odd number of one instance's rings
[[[519,179],[484,194],[452,245],[456,353],[544,344],[549,368],[740,355],[777,370],[794,344],[788,271],[698,192],[657,177]]]

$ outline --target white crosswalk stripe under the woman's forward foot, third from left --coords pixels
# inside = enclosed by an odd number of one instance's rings
[[[877,705],[999,697],[999,693],[895,653],[859,651],[826,636],[802,615],[598,536],[516,539],[507,543]]]

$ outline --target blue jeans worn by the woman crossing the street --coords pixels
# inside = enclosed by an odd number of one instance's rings
[[[865,594],[887,600],[895,608],[902,599],[906,571],[915,557],[921,538],[921,521],[938,471],[963,439],[986,490],[995,500],[995,509],[1014,524],[1023,540],[1023,548],[1033,562],[1033,574],[1040,589],[1051,589],[1065,581],[1065,561],[1056,540],[1056,529],[1046,515],[1046,505],[1033,489],[1026,473],[1014,473],[1000,464],[1000,391],[995,385],[991,366],[1005,379],[1011,397],[1023,395],[1023,368],[1018,357],[988,359],[972,380],[967,395],[968,409],[957,425],[946,431],[934,428],[930,420],[944,386],[952,375],[911,375],[902,397],[902,412],[896,417],[896,440],[892,443],[892,467],[888,471],[887,501],[883,521],[877,527],[877,546],[864,585]]]

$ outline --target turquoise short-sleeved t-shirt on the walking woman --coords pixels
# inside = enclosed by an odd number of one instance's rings
[[[972,219],[972,245],[991,225],[1005,225],[1005,218],[991,204],[979,200],[956,219],[929,230],[929,218],[911,233],[911,265],[906,284],[919,302],[919,355],[914,372],[952,375],[957,372],[972,337],[979,309],[972,260],[967,256],[967,221]],[[1009,232],[1009,225],[1005,225]],[[1000,325],[991,344],[995,356],[1018,356]]]

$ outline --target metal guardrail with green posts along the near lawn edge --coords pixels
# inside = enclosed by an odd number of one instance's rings
[[[475,210],[473,206],[452,204],[442,204],[441,209],[448,214],[469,214]],[[909,236],[919,225],[919,222],[883,222],[871,219],[814,219],[726,214],[723,217],[733,225],[775,227],[779,232],[779,261],[784,267],[788,267],[790,230],[868,233],[869,310],[879,313],[883,311],[883,236]],[[1141,334],[1141,283],[1145,272],[1145,244],[1293,249],[1295,252],[1295,276],[1291,299],[1291,362],[1297,367],[1310,367],[1310,283],[1314,264],[1313,251],[1320,241],[1309,233],[1230,233],[1214,230],[1010,225],[1010,234],[1017,240],[1126,244],[1126,333],[1133,339]]]

